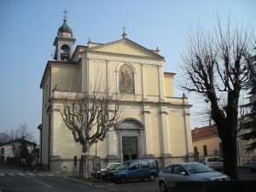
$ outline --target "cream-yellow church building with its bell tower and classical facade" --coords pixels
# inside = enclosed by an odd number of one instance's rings
[[[64,17],[65,18],[65,17]],[[88,92],[90,83],[112,84],[123,95],[125,115],[115,131],[90,148],[90,170],[93,157],[101,162],[155,158],[160,166],[194,160],[189,121],[191,107],[186,96],[174,97],[172,79],[175,73],[164,73],[165,59],[159,49],[147,49],[126,38],[75,49],[72,29],[64,19],[55,37],[55,61],[48,61],[40,84],[43,90],[40,160],[53,172],[73,171],[82,152],[73,134],[61,119],[58,100],[75,87]],[[99,80],[101,79],[101,80]],[[72,94],[70,94],[72,95]],[[79,166],[77,166],[79,167]]]

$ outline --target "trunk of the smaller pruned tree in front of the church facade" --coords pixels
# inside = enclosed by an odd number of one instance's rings
[[[89,150],[89,143],[84,143],[79,166],[79,176],[83,178],[88,178]]]

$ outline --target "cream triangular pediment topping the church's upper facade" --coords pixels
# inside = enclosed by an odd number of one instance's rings
[[[120,39],[108,44],[100,44],[90,49],[87,49],[88,52],[102,52],[115,55],[133,55],[138,57],[148,57],[152,59],[163,60],[164,57],[158,55],[153,50],[146,49],[143,46],[134,43],[128,38]]]

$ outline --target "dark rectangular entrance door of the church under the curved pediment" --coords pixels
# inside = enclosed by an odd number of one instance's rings
[[[122,137],[123,160],[137,159],[137,137]]]

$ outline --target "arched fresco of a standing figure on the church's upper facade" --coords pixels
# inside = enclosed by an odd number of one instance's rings
[[[128,65],[123,65],[119,69],[119,91],[120,93],[135,93],[133,71]]]

